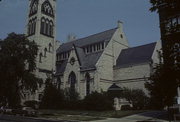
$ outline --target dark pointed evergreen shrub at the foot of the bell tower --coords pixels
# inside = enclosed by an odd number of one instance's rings
[[[58,90],[50,78],[46,79],[44,95],[40,103],[43,109],[60,109],[64,105],[64,92]]]

